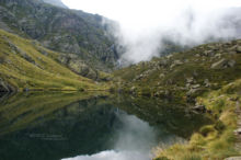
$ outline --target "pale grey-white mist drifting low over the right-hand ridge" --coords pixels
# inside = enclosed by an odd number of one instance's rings
[[[167,42],[188,48],[241,37],[241,8],[198,10],[190,5],[173,14],[168,11],[162,14],[165,16],[150,26],[135,28],[119,23],[112,31],[118,45],[125,48],[120,62],[136,64],[159,57],[165,52]]]

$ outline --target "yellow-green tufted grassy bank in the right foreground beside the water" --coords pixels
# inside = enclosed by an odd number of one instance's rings
[[[207,107],[216,123],[203,126],[187,144],[157,148],[154,160],[222,160],[241,155],[233,134],[237,129],[236,110],[241,103],[240,92],[241,79],[197,98],[197,102]]]

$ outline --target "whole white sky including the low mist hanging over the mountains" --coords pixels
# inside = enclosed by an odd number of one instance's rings
[[[167,35],[181,45],[198,45],[209,37],[237,36],[231,22],[223,20],[241,0],[62,0],[70,9],[97,13],[119,23],[112,31],[127,48],[122,59],[150,60],[163,49]],[[239,12],[241,13],[241,12]],[[232,13],[233,21],[241,14]],[[226,18],[227,20],[227,18]],[[227,20],[231,21],[231,20]]]

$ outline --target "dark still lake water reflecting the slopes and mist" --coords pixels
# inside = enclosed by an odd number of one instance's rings
[[[97,93],[0,96],[1,160],[148,160],[210,123],[169,100]]]

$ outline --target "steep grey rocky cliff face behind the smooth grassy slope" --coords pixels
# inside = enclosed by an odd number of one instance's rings
[[[110,70],[118,55],[102,19],[42,0],[0,1],[1,28],[36,39],[53,50],[76,54],[96,69]]]

